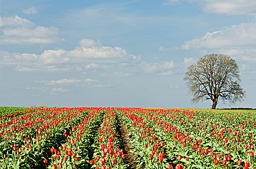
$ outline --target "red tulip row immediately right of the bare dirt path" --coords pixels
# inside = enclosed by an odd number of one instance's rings
[[[136,113],[137,109],[123,111],[118,109],[118,115],[129,129],[132,153],[137,156],[137,168],[166,169],[172,166],[167,163],[166,144],[156,133],[155,127],[144,116]]]

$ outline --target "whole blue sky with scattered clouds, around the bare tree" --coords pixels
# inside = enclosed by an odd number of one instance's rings
[[[1,0],[0,106],[210,108],[186,68],[232,56],[256,107],[256,1]]]

